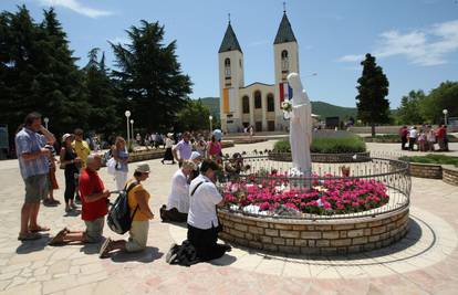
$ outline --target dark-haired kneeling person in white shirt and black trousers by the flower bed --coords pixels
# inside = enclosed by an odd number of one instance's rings
[[[214,183],[218,169],[215,161],[204,160],[200,175],[189,186],[188,241],[200,261],[219,259],[230,251],[229,245],[217,244],[219,223],[216,206],[223,203]]]

